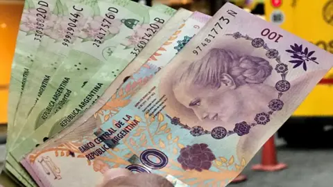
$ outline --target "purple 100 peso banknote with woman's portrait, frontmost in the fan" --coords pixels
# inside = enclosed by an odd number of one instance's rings
[[[46,184],[65,182],[68,163],[75,161],[85,173],[89,167],[92,173],[121,167],[172,175],[189,186],[225,186],[332,60],[332,54],[227,3],[125,108],[83,140],[33,152],[22,163]],[[44,174],[43,161],[61,169],[53,173],[56,180]]]

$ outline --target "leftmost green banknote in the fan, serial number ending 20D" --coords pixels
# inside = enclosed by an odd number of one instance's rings
[[[17,104],[30,75],[30,67],[35,59],[37,48],[40,46],[40,37],[44,37],[44,29],[49,28],[44,22],[49,21],[49,9],[54,8],[54,2],[27,0],[24,4],[10,77],[7,140],[9,143],[12,141],[10,134],[13,132]]]

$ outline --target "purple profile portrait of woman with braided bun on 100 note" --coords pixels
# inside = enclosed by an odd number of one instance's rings
[[[212,48],[204,57],[172,76],[176,100],[205,123],[234,125],[252,121],[266,109],[275,88],[263,82],[273,67],[262,57],[238,55],[223,48]],[[206,130],[213,126],[205,125]]]

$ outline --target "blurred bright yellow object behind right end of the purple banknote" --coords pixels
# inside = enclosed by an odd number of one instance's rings
[[[265,16],[333,53],[333,0],[265,0]],[[333,80],[333,69],[325,76]],[[293,116],[333,116],[333,84],[318,84]]]

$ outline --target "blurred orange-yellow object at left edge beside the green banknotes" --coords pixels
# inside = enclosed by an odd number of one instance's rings
[[[0,124],[7,123],[10,67],[24,1],[0,1]]]

